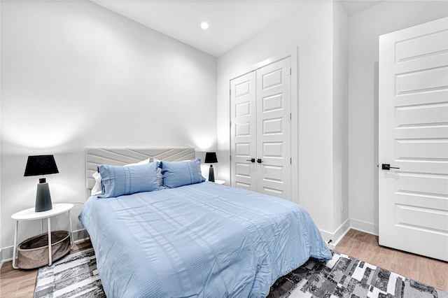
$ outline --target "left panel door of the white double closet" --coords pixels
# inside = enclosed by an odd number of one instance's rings
[[[231,185],[257,191],[255,71],[230,80]]]

